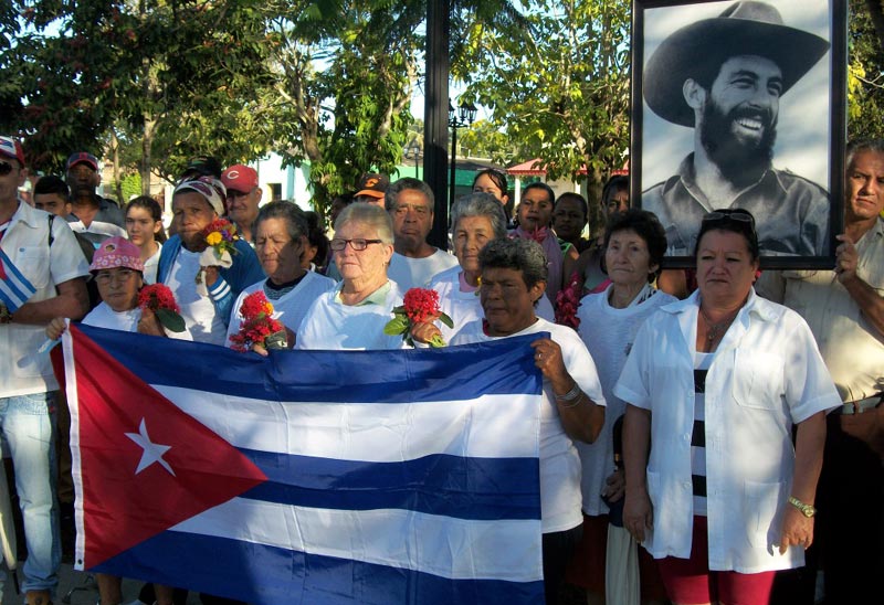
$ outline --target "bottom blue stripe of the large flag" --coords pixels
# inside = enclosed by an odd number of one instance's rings
[[[162,570],[156,567],[162,561]],[[401,567],[293,552],[227,538],[167,531],[96,572],[223,595],[254,605],[512,605],[543,603],[544,584],[452,580]]]

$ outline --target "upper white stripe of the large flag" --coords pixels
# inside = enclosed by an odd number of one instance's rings
[[[234,447],[261,452],[398,463],[433,454],[536,457],[537,443],[514,439],[515,424],[538,416],[536,395],[411,404],[290,403],[154,385]],[[502,405],[507,414],[501,414]],[[385,422],[379,423],[378,418]],[[469,428],[466,428],[469,427]],[[465,438],[464,438],[465,435]]]

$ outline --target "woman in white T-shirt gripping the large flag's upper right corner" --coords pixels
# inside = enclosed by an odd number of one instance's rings
[[[596,364],[570,328],[539,319],[547,262],[529,240],[498,240],[478,255],[484,320],[474,321],[452,344],[549,332],[532,343],[544,375],[540,407],[540,522],[546,603],[558,602],[565,565],[580,539],[580,457],[575,441],[591,443],[604,423],[604,397]]]

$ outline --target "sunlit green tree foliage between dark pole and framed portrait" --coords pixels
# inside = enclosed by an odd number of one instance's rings
[[[629,17],[624,0],[538,0],[526,11],[532,44],[481,25],[469,31],[467,96],[493,109],[520,157],[549,178],[591,189],[629,146]]]

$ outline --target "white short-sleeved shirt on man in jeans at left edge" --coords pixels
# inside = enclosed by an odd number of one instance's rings
[[[55,286],[88,275],[88,265],[74,233],[64,220],[19,203],[0,246],[36,288],[29,302],[53,298]],[[0,325],[0,397],[54,391],[59,388],[48,354],[36,354],[45,340],[43,326]]]

